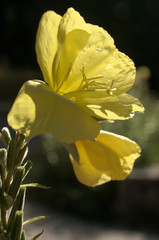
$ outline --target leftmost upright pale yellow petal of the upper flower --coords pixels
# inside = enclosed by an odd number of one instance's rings
[[[44,80],[53,88],[52,65],[58,47],[57,33],[61,16],[53,11],[43,14],[37,35],[36,35],[36,55],[40,65]]]

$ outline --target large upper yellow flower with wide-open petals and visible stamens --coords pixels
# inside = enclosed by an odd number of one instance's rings
[[[61,17],[42,16],[36,37],[37,61],[45,82],[24,83],[8,123],[27,138],[51,133],[67,143],[95,138],[99,119],[127,119],[143,111],[126,94],[135,67],[102,28],[85,23],[74,9]]]

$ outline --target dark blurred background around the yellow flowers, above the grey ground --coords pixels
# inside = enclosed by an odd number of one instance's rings
[[[20,86],[28,79],[42,79],[34,50],[41,15],[54,10],[63,15],[68,7],[86,22],[106,29],[117,48],[137,67],[132,95],[145,106],[145,114],[129,121],[104,124],[103,128],[137,141],[142,156],[124,182],[87,188],[74,177],[67,152],[49,135],[30,144],[34,168],[29,181],[53,186],[30,190],[28,198],[51,208],[96,221],[135,227],[158,228],[159,220],[159,1],[158,0],[2,0],[0,3],[0,127]],[[34,194],[33,194],[34,193]],[[45,202],[46,201],[46,202]]]

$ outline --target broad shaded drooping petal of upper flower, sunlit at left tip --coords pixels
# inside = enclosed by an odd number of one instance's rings
[[[52,92],[42,81],[27,81],[22,86],[8,123],[28,138],[51,133],[67,143],[94,138],[101,129],[76,103]]]

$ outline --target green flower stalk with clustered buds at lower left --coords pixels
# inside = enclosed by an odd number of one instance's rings
[[[2,129],[0,140],[5,145],[0,149],[0,239],[25,240],[23,216],[27,184],[22,183],[32,168],[32,162],[25,161],[27,141],[19,133],[12,139],[8,128]],[[42,218],[36,218],[39,219]]]

